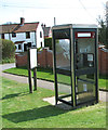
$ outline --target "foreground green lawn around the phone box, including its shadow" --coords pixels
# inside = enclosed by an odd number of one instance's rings
[[[54,92],[39,88],[29,94],[28,84],[2,79],[3,128],[106,128],[106,103],[64,110],[43,102]]]

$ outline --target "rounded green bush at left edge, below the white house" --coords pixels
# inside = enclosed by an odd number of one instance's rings
[[[15,44],[11,40],[0,39],[2,43],[2,60],[15,56]]]

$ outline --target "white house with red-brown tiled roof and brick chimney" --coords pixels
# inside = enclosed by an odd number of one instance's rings
[[[0,25],[1,39],[12,40],[15,43],[16,52],[27,51],[28,47],[44,47],[44,36],[41,23],[25,23],[21,17],[21,24]]]

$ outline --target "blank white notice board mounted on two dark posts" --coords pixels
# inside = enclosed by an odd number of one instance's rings
[[[30,68],[37,67],[37,49],[30,49]]]

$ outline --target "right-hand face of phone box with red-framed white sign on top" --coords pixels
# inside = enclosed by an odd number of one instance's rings
[[[96,32],[75,31],[77,105],[96,100]]]

